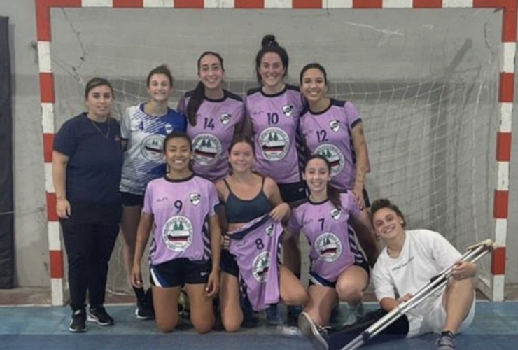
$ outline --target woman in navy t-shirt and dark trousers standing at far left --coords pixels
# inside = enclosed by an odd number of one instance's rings
[[[87,318],[113,325],[103,304],[122,213],[123,148],[120,125],[110,117],[113,87],[109,81],[88,81],[85,103],[88,111],[67,120],[57,132],[52,153],[56,211],[69,262],[70,332],[85,332]]]

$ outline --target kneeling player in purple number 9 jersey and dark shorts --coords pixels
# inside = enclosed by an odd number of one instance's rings
[[[185,286],[195,330],[214,325],[213,297],[219,288],[221,228],[218,193],[211,181],[190,169],[192,145],[185,132],[165,139],[169,172],[148,183],[132,269],[132,284],[142,286],[141,260],[150,232],[151,284],[155,319],[162,332],[179,321],[178,302]]]

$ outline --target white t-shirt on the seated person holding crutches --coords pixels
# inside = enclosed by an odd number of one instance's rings
[[[372,278],[377,300],[381,302],[384,297],[398,299],[407,293],[415,294],[433,276],[451,267],[459,258],[461,253],[438,232],[406,231],[405,243],[398,258],[388,256],[384,248],[374,265]],[[429,316],[431,305],[441,297],[443,290],[430,295],[409,312],[409,335],[422,332],[423,318]]]

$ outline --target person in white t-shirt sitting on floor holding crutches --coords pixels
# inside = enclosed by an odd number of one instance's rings
[[[372,272],[382,310],[374,311],[355,325],[330,335],[302,314],[299,327],[317,349],[341,349],[354,335],[360,334],[401,302],[409,300],[430,279],[461,258],[461,253],[439,233],[405,230],[402,212],[389,200],[375,201],[371,211],[374,230],[386,244]],[[456,349],[455,334],[467,328],[475,316],[472,277],[476,272],[474,263],[458,262],[447,286],[429,295],[381,334],[412,337],[434,332],[441,335],[436,342],[438,350]],[[381,339],[384,338],[379,337],[378,340]]]

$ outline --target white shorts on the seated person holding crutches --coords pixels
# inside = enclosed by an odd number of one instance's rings
[[[473,290],[473,294],[475,294],[475,290]],[[409,311],[407,314],[409,321],[408,337],[431,332],[440,334],[442,332],[446,324],[446,310],[442,305],[443,295],[444,290],[440,295],[437,295],[437,297],[433,297],[430,301],[425,300],[419,307]],[[468,312],[468,316],[462,321],[457,333],[463,332],[463,330],[471,325],[473,318],[475,318],[475,304],[475,295],[473,295],[471,309]]]

